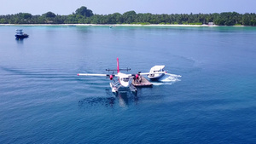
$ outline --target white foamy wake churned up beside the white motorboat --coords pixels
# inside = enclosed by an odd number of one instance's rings
[[[162,78],[160,78],[157,82],[151,82],[153,85],[162,85],[162,84],[174,84],[178,81],[181,81],[181,75],[166,73]]]

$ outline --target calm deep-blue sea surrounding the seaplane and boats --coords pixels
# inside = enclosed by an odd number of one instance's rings
[[[15,40],[15,29],[30,35]],[[0,26],[0,143],[255,143],[256,27]],[[107,78],[181,75],[114,96]]]

